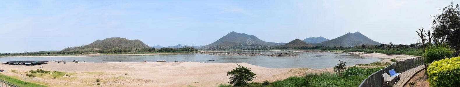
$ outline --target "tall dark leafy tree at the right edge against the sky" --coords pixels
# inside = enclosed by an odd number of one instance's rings
[[[439,9],[441,11],[441,9]],[[454,2],[442,9],[443,13],[434,16],[433,36],[441,44],[449,44],[456,51],[455,56],[460,53],[460,7],[454,6]]]

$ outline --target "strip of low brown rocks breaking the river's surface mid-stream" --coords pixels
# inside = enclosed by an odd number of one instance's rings
[[[292,53],[277,53],[277,54],[260,54],[260,53],[226,53],[226,52],[200,52],[200,54],[213,54],[213,55],[247,55],[247,56],[256,56],[256,55],[264,55],[264,56],[299,56],[298,54]]]

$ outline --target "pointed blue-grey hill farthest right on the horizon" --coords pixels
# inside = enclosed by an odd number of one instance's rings
[[[318,46],[357,46],[357,45],[380,45],[379,42],[375,42],[374,40],[362,35],[359,32],[356,33],[346,33],[339,38],[334,38],[328,41],[324,41],[320,44],[316,44]]]

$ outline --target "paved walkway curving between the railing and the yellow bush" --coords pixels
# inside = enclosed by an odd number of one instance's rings
[[[412,78],[412,76],[414,76],[417,72],[423,70],[423,68],[425,68],[425,66],[420,65],[407,71],[401,72],[401,75],[399,75],[401,80],[396,82],[396,84],[393,85],[393,87],[403,87],[404,84],[406,84]]]

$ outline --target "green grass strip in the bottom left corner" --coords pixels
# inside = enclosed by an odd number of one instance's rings
[[[3,74],[0,74],[0,79],[6,82],[10,82],[11,84],[17,85],[19,87],[46,87],[44,85],[40,85],[40,84],[33,83],[33,82],[24,82],[16,78],[13,78],[11,76],[6,76]]]

